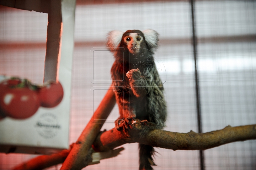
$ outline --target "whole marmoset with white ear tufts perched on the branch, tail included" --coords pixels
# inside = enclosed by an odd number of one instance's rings
[[[164,127],[164,87],[153,57],[158,47],[158,36],[151,29],[108,33],[107,46],[115,58],[111,77],[120,113],[115,121],[118,130],[128,130],[135,118],[149,122],[140,136]],[[153,153],[152,146],[139,143],[139,169],[153,169]]]

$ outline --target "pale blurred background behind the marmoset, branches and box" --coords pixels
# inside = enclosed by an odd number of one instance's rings
[[[73,55],[70,144],[93,113],[90,50],[105,47],[111,30],[154,29],[160,34],[155,59],[165,66],[165,130],[198,132],[196,81],[190,1],[77,0]],[[200,0],[194,3],[202,132],[227,125],[256,124],[256,1]],[[43,83],[46,13],[0,5],[0,74]],[[97,55],[95,72],[110,78],[113,57]],[[106,87],[107,89],[107,87]],[[94,107],[106,91],[94,95]],[[103,129],[112,129],[115,106]],[[126,144],[121,155],[85,169],[138,169],[138,144]],[[199,151],[156,148],[154,169],[200,169]],[[0,153],[0,169],[11,169],[37,155]],[[256,169],[256,141],[235,142],[204,151],[205,169]],[[49,169],[59,169],[61,165]]]

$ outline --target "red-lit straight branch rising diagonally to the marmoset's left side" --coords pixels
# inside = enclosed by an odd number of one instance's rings
[[[61,169],[82,169],[91,162],[92,143],[116,103],[112,87],[71,149]]]

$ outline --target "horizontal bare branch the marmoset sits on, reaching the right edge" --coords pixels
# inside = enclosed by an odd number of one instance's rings
[[[144,137],[139,137],[141,124],[136,123],[128,132],[118,131],[115,128],[104,131],[97,136],[94,148],[107,151],[125,143],[143,143],[153,147],[172,150],[205,150],[226,143],[256,139],[256,124],[246,126],[226,126],[222,130],[216,130],[203,134],[190,131],[177,133],[165,130],[151,130]]]

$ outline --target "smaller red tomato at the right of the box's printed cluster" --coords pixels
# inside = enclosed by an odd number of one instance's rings
[[[64,92],[62,85],[58,82],[42,87],[38,95],[42,107],[52,108],[62,101]]]

